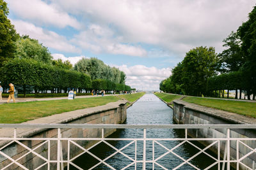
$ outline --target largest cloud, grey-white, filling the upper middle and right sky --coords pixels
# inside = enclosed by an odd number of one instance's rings
[[[220,52],[221,41],[236,31],[255,5],[253,0],[54,0],[52,3],[73,15],[90,18],[92,24],[105,25],[122,38],[122,44],[145,43],[182,56],[195,46],[215,46]]]

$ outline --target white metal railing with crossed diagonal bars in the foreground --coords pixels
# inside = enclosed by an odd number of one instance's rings
[[[47,129],[58,129],[57,136],[54,138],[22,138],[22,137],[17,136],[17,129],[22,129],[22,128],[44,128],[45,129],[45,127],[47,127]],[[95,159],[97,159],[99,161],[99,163],[95,164],[95,166],[91,167],[90,169],[93,169],[93,168],[99,166],[99,164],[104,164],[104,165],[108,166],[109,169],[115,169],[113,166],[108,164],[106,162],[106,160],[108,160],[111,157],[113,157],[114,155],[116,155],[116,153],[120,153],[120,154],[124,155],[124,157],[127,157],[127,159],[131,160],[131,164],[128,164],[127,166],[125,166],[122,169],[128,169],[131,166],[134,166],[134,169],[136,169],[138,163],[143,164],[142,169],[146,169],[147,163],[152,163],[152,169],[155,168],[155,165],[157,165],[163,169],[167,169],[163,165],[159,164],[159,162],[157,162],[157,161],[160,159],[163,159],[163,157],[169,153],[172,153],[173,155],[175,155],[176,157],[178,157],[180,160],[183,161],[182,164],[180,164],[179,166],[177,166],[173,169],[179,169],[179,167],[183,166],[184,164],[188,164],[189,166],[194,167],[195,169],[200,169],[196,165],[193,165],[193,164],[191,164],[191,162],[189,162],[190,160],[194,159],[196,156],[200,155],[200,153],[204,153],[205,155],[210,157],[212,160],[214,160],[214,163],[212,163],[210,166],[206,167],[205,169],[210,169],[211,167],[218,166],[218,169],[226,168],[229,170],[230,163],[236,163],[236,169],[239,169],[241,167],[244,167],[245,169],[246,168],[252,169],[252,170],[255,169],[254,162],[253,162],[253,165],[250,167],[250,166],[244,164],[243,160],[246,159],[247,157],[249,157],[250,155],[252,155],[253,153],[256,153],[256,148],[252,148],[251,146],[247,145],[246,142],[244,142],[244,141],[252,141],[252,143],[255,143],[256,138],[231,138],[230,137],[230,129],[256,129],[256,124],[255,125],[250,125],[250,124],[239,124],[239,125],[238,124],[237,125],[235,125],[235,124],[230,124],[230,125],[229,124],[223,124],[223,125],[222,124],[220,124],[220,125],[218,125],[218,124],[212,124],[212,125],[201,125],[201,124],[197,124],[197,125],[192,125],[192,124],[186,124],[186,125],[0,124],[0,128],[13,128],[14,129],[12,137],[3,138],[0,134],[0,141],[6,141],[6,143],[3,146],[0,146],[0,155],[2,155],[2,157],[4,157],[5,160],[10,161],[10,164],[7,164],[7,165],[4,164],[4,166],[1,165],[1,169],[10,169],[10,166],[12,166],[13,164],[16,164],[21,169],[28,169],[27,167],[22,165],[19,162],[19,160],[26,157],[26,155],[28,155],[29,153],[33,153],[34,155],[36,155],[36,157],[39,157],[40,159],[45,161],[44,163],[42,163],[40,166],[36,167],[35,169],[40,169],[44,166],[46,166],[47,169],[50,169],[51,163],[56,163],[57,164],[56,168],[58,170],[63,169],[64,166],[67,166],[67,169],[69,169],[70,165],[76,167],[77,169],[82,169],[81,167],[74,164],[73,161],[75,159],[77,159],[79,156],[83,155],[84,153],[88,153],[89,155],[91,155],[92,157],[94,157]],[[72,129],[72,128],[102,129],[101,136],[97,137],[97,138],[67,138],[65,136],[61,136],[61,129]],[[104,129],[143,129],[143,138],[105,138],[104,137]],[[184,138],[147,138],[147,129],[184,129],[185,133],[184,133]],[[188,129],[227,129],[227,134],[226,134],[225,138],[189,138]],[[40,143],[38,145],[36,145],[34,148],[29,148],[29,146],[26,146],[24,143],[22,143],[22,141],[40,141]],[[50,155],[52,141],[55,141],[57,143],[57,159],[56,160],[52,160],[51,155]],[[63,141],[67,141],[67,143],[68,143],[67,159],[63,159],[63,148],[61,146],[61,143],[63,143]],[[77,141],[96,141],[96,143],[94,145],[90,146],[89,148],[84,148],[84,146],[79,145],[77,143]],[[124,147],[118,149],[118,148],[115,148],[115,146],[108,143],[108,141],[130,141],[130,142],[127,145],[125,145]],[[138,141],[143,142],[143,159],[142,160],[137,159]],[[148,141],[152,142],[152,148],[151,148],[152,149],[152,159],[151,160],[147,160],[147,157],[146,157],[146,152],[147,152],[146,143]],[[167,148],[166,146],[161,144],[161,141],[179,141],[180,143],[178,145],[174,146],[173,148]],[[193,143],[193,141],[208,141],[209,145],[205,146],[205,148],[200,148],[200,147],[196,146]],[[223,150],[221,151],[221,146],[220,146],[221,142],[223,142],[223,141],[225,142],[225,152],[223,152]],[[236,157],[235,158],[232,157],[232,159],[230,159],[230,142],[231,141],[236,142]],[[100,159],[99,157],[97,157],[97,155],[90,152],[90,150],[93,147],[99,145],[100,143],[105,143],[109,147],[113,148],[113,150],[115,150],[115,153],[112,153],[105,159]],[[173,152],[176,148],[183,145],[184,143],[189,143],[191,146],[194,146],[195,148],[197,148],[199,150],[199,152],[195,153],[195,155],[193,155],[189,159],[184,159],[179,154]],[[3,150],[5,148],[7,148],[8,146],[13,145],[13,144],[20,145],[20,146],[26,148],[26,150],[28,150],[28,152],[24,153],[24,155],[20,155],[19,158],[15,158],[15,159],[12,156],[3,152]],[[83,150],[83,152],[77,154],[75,157],[70,158],[70,144],[77,146],[78,148]],[[132,144],[135,144],[135,147],[134,147],[135,157],[134,158],[132,158],[129,155],[122,152],[125,148],[127,148],[128,146],[131,146]],[[47,145],[47,157],[44,157],[44,156],[40,155],[40,153],[35,152],[35,150],[37,148],[40,148],[40,146],[42,146],[42,145]],[[164,150],[166,150],[166,153],[164,153],[163,155],[161,155],[159,157],[156,157],[157,150],[155,149],[154,145],[161,146],[162,148],[164,148]],[[209,153],[205,152],[207,149],[211,148],[211,146],[213,146],[213,145],[217,146],[217,152],[216,152],[217,157],[213,157]],[[243,145],[243,147],[246,147],[248,150],[250,150],[250,152],[248,152],[242,156],[239,155],[239,145]],[[224,154],[221,155],[221,152],[223,152]]]

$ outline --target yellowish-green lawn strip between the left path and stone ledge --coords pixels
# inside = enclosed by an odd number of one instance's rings
[[[26,103],[0,104],[0,123],[19,124],[40,117],[48,117],[67,111],[102,106],[118,101],[116,96],[90,97],[75,100],[33,101]]]

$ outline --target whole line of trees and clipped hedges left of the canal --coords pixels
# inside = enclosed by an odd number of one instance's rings
[[[81,59],[73,67],[53,60],[48,48],[29,36],[20,36],[8,19],[7,4],[0,0],[0,77],[4,88],[13,83],[24,96],[27,92],[82,90],[131,90],[126,75],[97,58]]]

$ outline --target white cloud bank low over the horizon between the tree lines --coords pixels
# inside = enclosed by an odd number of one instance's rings
[[[127,76],[125,81],[127,85],[140,90],[159,90],[159,83],[172,73],[171,68],[157,69],[143,65],[115,67],[124,71]]]

